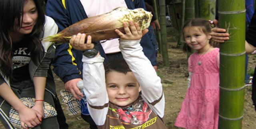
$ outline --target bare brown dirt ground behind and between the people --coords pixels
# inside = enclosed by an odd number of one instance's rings
[[[187,90],[187,61],[186,53],[181,49],[175,48],[176,43],[168,43],[168,53],[170,67],[162,67],[162,57],[158,54],[158,75],[162,78],[162,84],[164,88],[164,95],[166,99],[165,118],[164,122],[169,129],[178,129],[174,127],[175,119],[180,111],[182,101],[184,100]],[[254,66],[256,65],[256,55],[249,55],[249,66],[248,71],[252,73]],[[59,91],[64,89],[63,82],[56,77],[56,87],[58,97],[61,100]],[[243,118],[243,129],[256,129],[256,112],[252,106],[251,100],[251,86],[245,88],[244,97],[244,118]],[[68,116],[65,111],[67,123],[70,129],[89,129],[88,123],[77,116]],[[0,129],[4,128],[0,125]]]

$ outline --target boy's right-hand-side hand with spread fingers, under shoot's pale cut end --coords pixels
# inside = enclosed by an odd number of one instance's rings
[[[125,34],[119,31],[118,29],[115,32],[120,36],[121,40],[139,40],[148,32],[148,29],[141,30],[138,23],[129,22],[130,28],[127,23],[123,23]]]

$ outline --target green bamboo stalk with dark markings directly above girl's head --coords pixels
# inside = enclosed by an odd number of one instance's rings
[[[207,20],[215,19],[216,0],[198,0],[199,1],[199,17]]]

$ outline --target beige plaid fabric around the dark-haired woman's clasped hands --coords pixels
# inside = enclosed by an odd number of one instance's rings
[[[32,108],[35,105],[35,98],[20,98],[23,104],[25,104],[28,108]],[[53,106],[49,103],[44,102],[44,118],[54,117],[57,115],[57,112]],[[16,111],[13,107],[11,107],[9,112],[9,119],[12,125],[17,129],[22,129],[20,125],[20,116],[18,111]]]

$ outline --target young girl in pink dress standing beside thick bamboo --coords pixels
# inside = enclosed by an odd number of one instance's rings
[[[185,43],[195,49],[188,59],[190,87],[175,121],[186,129],[218,129],[219,49],[211,44],[211,23],[196,18],[183,27]]]

